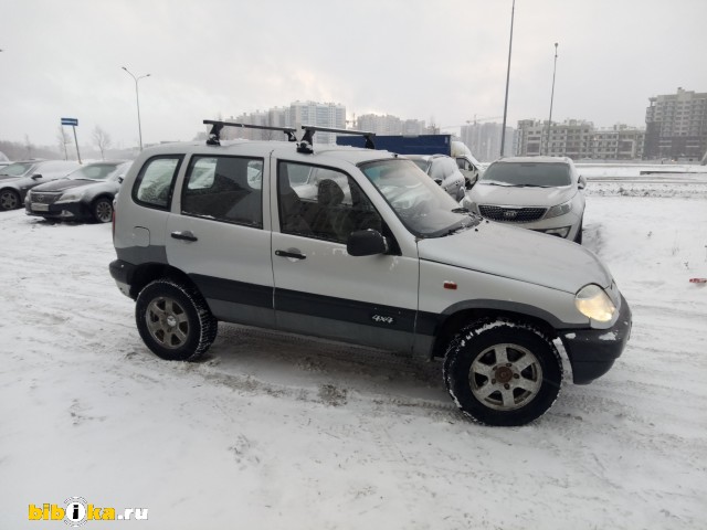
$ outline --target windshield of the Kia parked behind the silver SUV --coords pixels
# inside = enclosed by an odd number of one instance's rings
[[[570,167],[564,162],[494,162],[479,182],[502,186],[553,188],[570,186]]]

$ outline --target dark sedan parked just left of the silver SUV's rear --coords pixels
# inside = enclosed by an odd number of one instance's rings
[[[125,160],[87,163],[64,179],[34,188],[27,194],[24,210],[28,215],[45,219],[109,223],[113,198],[130,163]]]

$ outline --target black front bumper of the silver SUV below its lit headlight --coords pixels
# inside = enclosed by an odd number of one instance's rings
[[[631,308],[621,296],[616,322],[609,329],[563,329],[560,340],[572,365],[574,384],[588,384],[606,373],[631,336]]]

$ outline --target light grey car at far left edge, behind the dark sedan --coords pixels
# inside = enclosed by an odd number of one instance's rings
[[[24,160],[0,168],[0,210],[22,208],[29,190],[66,177],[80,167],[72,160]]]

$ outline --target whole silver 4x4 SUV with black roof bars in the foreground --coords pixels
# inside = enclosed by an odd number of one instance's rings
[[[325,337],[442,359],[466,415],[523,425],[558,395],[558,340],[579,384],[621,354],[631,311],[590,251],[483,220],[394,153],[208,123],[143,151],[117,199],[110,274],[160,358],[197,359],[219,320]]]

